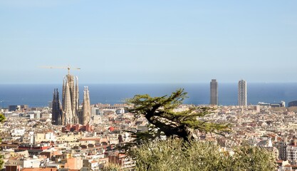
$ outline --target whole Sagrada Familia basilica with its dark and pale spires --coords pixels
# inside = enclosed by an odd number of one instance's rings
[[[53,90],[53,125],[90,124],[90,95],[88,87],[83,90],[83,107],[79,106],[78,77],[68,73],[63,79],[62,103],[58,88]]]

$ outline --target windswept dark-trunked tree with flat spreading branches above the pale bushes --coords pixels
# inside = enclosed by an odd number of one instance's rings
[[[131,113],[135,117],[144,116],[150,123],[150,131],[144,137],[150,139],[160,138],[162,134],[166,137],[182,138],[186,142],[193,140],[192,130],[199,130],[203,133],[220,133],[228,131],[229,125],[212,123],[202,120],[204,116],[214,112],[214,108],[192,106],[188,110],[176,111],[182,104],[187,93],[179,89],[172,95],[162,97],[150,97],[150,95],[135,95],[127,100],[127,104],[132,105]],[[139,136],[138,136],[139,138]]]

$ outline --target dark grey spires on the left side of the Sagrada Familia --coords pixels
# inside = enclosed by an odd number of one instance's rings
[[[51,110],[53,125],[62,125],[63,112],[61,108],[61,102],[59,100],[58,88],[53,90],[53,103]]]

